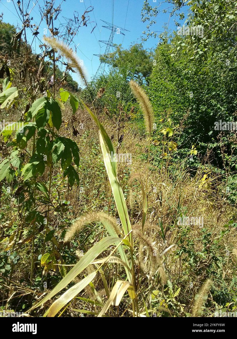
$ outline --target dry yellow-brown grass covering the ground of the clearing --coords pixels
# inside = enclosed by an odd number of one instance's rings
[[[62,186],[62,190],[60,191],[61,199],[70,201],[70,205],[72,206],[70,217],[72,220],[78,219],[80,216],[85,215],[89,211],[92,211],[93,214],[94,212],[96,213],[101,210],[104,210],[104,212],[117,218],[118,215],[115,210],[109,180],[104,169],[101,150],[98,147],[98,129],[95,126],[95,123],[88,118],[88,115],[86,115],[85,112],[79,111],[73,124],[76,127],[80,123],[84,123],[85,129],[78,129],[78,135],[73,136],[70,114],[71,113],[66,106],[63,118],[66,126],[62,128],[61,133],[66,137],[74,139],[79,145],[81,166],[79,175],[83,192],[80,192],[80,187],[67,188],[65,186],[65,180],[56,180],[52,187],[55,185],[57,185],[57,188]],[[108,135],[111,136],[114,134],[114,139],[117,140],[113,121],[111,121],[106,115],[101,115],[100,120],[108,132]],[[142,193],[139,181],[133,181],[132,190],[134,193],[133,197],[135,203],[133,210],[131,210],[128,203],[128,192],[131,187],[129,177],[140,172],[141,177],[145,180],[147,164],[146,161],[141,159],[140,155],[141,152],[146,153],[148,137],[141,137],[136,125],[131,122],[125,123],[122,133],[124,134],[124,137],[122,144],[119,146],[119,152],[132,153],[132,164],[128,165],[126,163],[118,163],[118,178],[122,189],[125,192],[125,197],[127,198],[129,215],[132,227],[135,230],[137,227],[136,225],[141,225],[142,220]],[[131,135],[133,135],[132,138]],[[180,168],[180,164],[176,165],[176,176],[173,177],[167,171],[166,161],[167,160],[164,160],[164,164],[161,168],[157,168],[150,164],[148,170],[147,222],[144,226],[143,237],[141,238],[141,236],[139,236],[140,231],[138,230],[137,240],[135,238],[134,243],[134,250],[137,257],[136,272],[139,266],[147,272],[147,277],[146,275],[140,275],[139,277],[138,291],[140,294],[146,295],[145,303],[148,307],[149,305],[151,306],[152,290],[162,291],[162,286],[167,283],[167,280],[173,281],[173,283],[177,282],[177,284],[182,287],[182,290],[180,297],[176,299],[178,299],[180,303],[186,304],[186,312],[191,312],[194,296],[198,292],[200,286],[202,286],[204,279],[208,277],[205,273],[205,262],[200,263],[200,269],[203,267],[203,275],[196,275],[195,270],[197,270],[198,267],[195,267],[193,273],[189,272],[187,275],[187,272],[185,271],[186,268],[188,268],[188,264],[186,263],[187,258],[185,256],[179,258],[175,254],[175,251],[180,248],[180,240],[182,240],[181,233],[184,232],[185,228],[187,228],[186,226],[177,225],[177,211],[179,209],[179,204],[182,206],[180,212],[182,211],[184,213],[186,210],[186,216],[203,217],[206,232],[210,232],[213,235],[213,239],[219,238],[220,231],[223,230],[223,226],[233,218],[236,213],[236,209],[234,207],[230,207],[230,205],[223,200],[223,197],[218,194],[218,189],[215,187],[215,185],[218,184],[218,178],[212,176],[208,184],[201,184],[204,172],[200,171],[194,176],[191,176],[188,172],[184,172],[183,169]],[[175,167],[174,164],[173,167]],[[57,168],[54,169],[53,176],[56,174]],[[156,187],[156,191],[154,191],[154,187]],[[61,218],[58,215],[55,216],[53,212],[50,213],[50,220],[52,227],[56,228],[58,225],[62,224]],[[161,221],[165,232],[165,239],[161,235]],[[95,227],[93,230],[91,228],[83,229],[81,233],[86,237],[89,237],[89,239],[92,239],[89,244],[85,244],[85,248],[87,249],[87,246],[91,246],[93,243],[98,242],[104,236],[104,232],[106,233],[106,231],[104,231],[101,227]],[[55,236],[61,237],[61,234],[61,229],[56,230]],[[192,251],[195,253],[202,252],[204,250],[203,243],[200,240],[202,235],[202,228],[198,225],[189,226],[188,232],[183,234],[183,237],[187,236],[185,243],[186,246],[188,246],[188,241],[191,241],[193,242]],[[76,236],[76,239],[79,239],[78,236]],[[143,248],[140,248],[140,240],[142,240]],[[158,254],[161,254],[171,245],[174,246],[162,255],[161,258],[152,258],[153,251],[157,251]],[[228,249],[230,253],[233,251],[235,254],[235,248],[237,248],[237,240],[235,237],[235,231],[232,230],[227,237],[223,238],[222,247],[219,250],[218,255],[222,255],[224,257],[226,249]],[[226,265],[222,267],[221,274],[223,279],[227,282],[231,281],[233,278],[234,266],[232,260],[236,259],[233,259],[232,257],[235,258],[234,255],[230,256]],[[147,261],[147,258],[154,260]],[[143,262],[143,260],[146,261]],[[29,263],[27,264],[27,262],[24,262],[24,264],[26,265],[24,272],[27,272],[27,270],[29,270],[27,265],[29,266]],[[14,273],[12,279],[16,282],[19,281],[19,278],[23,278],[22,273],[23,270],[19,267]],[[112,266],[111,263],[108,263],[104,267],[104,274],[108,279],[108,286],[111,290],[114,285],[114,278],[116,277],[116,279],[120,279],[121,275],[123,275],[123,270],[118,264]],[[153,278],[154,276],[155,278]],[[78,276],[78,278],[82,277],[83,275]],[[78,278],[76,279],[78,280]],[[189,281],[194,282],[193,290],[187,287]],[[91,288],[86,288],[81,296],[86,298],[89,296],[90,299],[97,301],[100,300],[102,304],[104,304],[106,299],[104,293],[102,293],[104,286],[101,276],[94,281],[94,287],[97,291],[96,293]],[[215,283],[215,288],[218,289],[220,286]],[[183,300],[185,300],[185,302]],[[128,304],[126,304],[127,302]],[[124,303],[128,309],[131,307],[129,301],[126,301],[126,298]],[[119,307],[120,315],[123,313],[122,309],[125,304],[120,306],[121,310]],[[168,309],[167,312],[172,314],[172,310],[167,308],[168,306],[164,305],[160,305],[160,310]],[[77,307],[79,309],[84,306],[83,304],[80,304],[80,301],[78,301]],[[140,312],[144,310],[144,303],[139,303],[139,307]],[[212,311],[209,311],[209,314],[214,312],[213,307]],[[70,311],[72,308],[76,308],[75,305],[71,305],[68,312],[72,312]],[[93,310],[93,307],[88,307],[88,310]],[[110,311],[109,314],[111,316],[116,316],[115,311]],[[129,313],[123,313],[123,316],[129,316]],[[181,312],[180,316],[184,316],[184,313]]]

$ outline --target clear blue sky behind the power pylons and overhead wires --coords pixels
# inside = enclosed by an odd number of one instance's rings
[[[20,21],[16,9],[13,4],[13,0],[0,0],[0,13],[3,12],[3,21],[9,22],[11,24],[17,25],[19,27],[22,26],[22,22]],[[14,0],[16,7],[17,0]],[[28,0],[24,0],[25,3],[28,3]],[[34,3],[37,0],[30,0],[29,9],[33,7]],[[56,5],[61,3],[62,0],[56,0]],[[103,54],[105,51],[105,44],[98,42],[99,40],[108,40],[111,31],[107,28],[102,27],[105,25],[101,20],[112,23],[116,26],[120,26],[122,28],[125,27],[130,32],[125,32],[125,36],[122,34],[115,34],[113,42],[116,44],[122,43],[124,48],[128,48],[132,43],[140,43],[142,32],[146,29],[147,23],[141,22],[141,9],[143,6],[144,0],[66,0],[62,3],[62,12],[58,16],[58,20],[54,23],[54,27],[57,27],[62,23],[64,24],[66,18],[73,19],[73,12],[77,11],[79,16],[84,13],[85,9],[89,6],[94,7],[94,11],[89,13],[90,21],[86,26],[80,27],[78,31],[78,36],[76,36],[73,41],[77,45],[77,56],[83,60],[85,68],[87,69],[88,78],[95,74],[98,66],[99,66],[99,58],[97,56],[93,56],[93,54]],[[35,5],[30,13],[30,17],[33,17],[33,21],[31,23],[39,24],[41,16],[39,13],[39,5],[42,6],[44,3],[43,0],[38,0],[37,5]],[[158,5],[153,2],[153,0],[149,0],[149,3],[152,6]],[[112,11],[112,4],[113,11]],[[165,8],[167,7],[167,3],[162,5]],[[18,8],[17,8],[18,9]],[[18,9],[19,10],[19,9]],[[113,14],[113,18],[112,18]],[[153,28],[154,31],[163,31],[164,25],[168,22],[169,13],[163,14],[160,13],[157,18],[157,24]],[[169,22],[169,29],[176,29],[174,25],[174,17],[171,18]],[[97,27],[95,27],[93,33],[91,33],[92,27],[97,23]],[[42,40],[44,36],[44,28],[47,28],[47,25],[44,22],[40,24],[38,38]],[[50,36],[49,31],[47,31],[47,36]],[[29,42],[32,41],[33,36],[30,31],[27,33],[27,39]],[[32,47],[35,49],[36,53],[39,53],[39,40],[35,39]],[[158,38],[149,38],[148,41],[144,42],[144,47],[146,48],[155,48],[158,43]],[[77,75],[72,74],[73,78],[78,81],[80,80]]]

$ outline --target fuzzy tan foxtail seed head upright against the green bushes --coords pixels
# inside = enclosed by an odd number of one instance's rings
[[[142,112],[144,114],[146,130],[147,132],[151,133],[153,131],[154,113],[150,100],[145,91],[135,81],[131,80],[129,85],[141,106]]]

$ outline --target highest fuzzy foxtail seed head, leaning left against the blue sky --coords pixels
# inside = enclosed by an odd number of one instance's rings
[[[60,51],[68,60],[70,60],[70,66],[75,68],[80,74],[81,79],[84,81],[85,85],[88,85],[85,70],[82,69],[81,60],[78,60],[73,51],[69,49],[65,44],[59,42],[55,38],[48,38],[44,36],[44,41],[47,42],[52,48]]]

